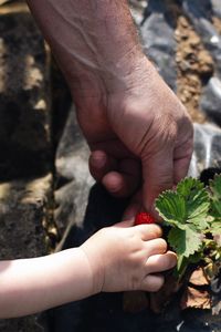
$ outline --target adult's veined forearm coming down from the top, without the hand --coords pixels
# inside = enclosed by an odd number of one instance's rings
[[[76,96],[119,89],[143,61],[127,0],[28,3]]]

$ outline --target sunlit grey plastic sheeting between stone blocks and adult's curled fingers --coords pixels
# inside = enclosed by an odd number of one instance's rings
[[[73,106],[55,157],[57,180],[54,217],[61,236],[65,229],[69,232],[73,224],[80,225],[83,220],[88,191],[94,184],[88,172],[88,155],[90,151],[77,125]]]

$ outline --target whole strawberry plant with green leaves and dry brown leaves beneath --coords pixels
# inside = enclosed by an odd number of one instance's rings
[[[173,281],[150,295],[150,308],[160,311],[170,299],[169,284],[173,284],[173,290],[183,290],[182,309],[212,309],[219,314],[220,295],[217,293],[213,301],[212,284],[220,283],[221,278],[221,175],[215,175],[208,186],[199,179],[185,178],[175,190],[159,195],[156,209],[164,219],[166,239],[177,252],[178,263]]]

